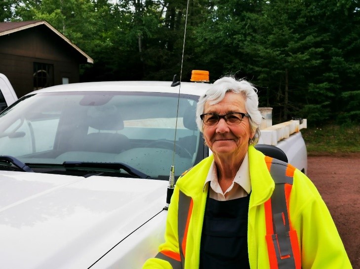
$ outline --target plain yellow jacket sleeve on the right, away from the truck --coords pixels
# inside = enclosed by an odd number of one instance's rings
[[[303,269],[351,269],[348,255],[330,212],[310,179],[297,170],[292,218],[302,252]],[[290,213],[291,215],[291,213]]]

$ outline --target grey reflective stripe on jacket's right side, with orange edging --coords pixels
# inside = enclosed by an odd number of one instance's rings
[[[270,174],[275,181],[275,190],[271,196],[274,235],[272,235],[279,269],[295,268],[294,255],[290,242],[290,224],[286,207],[285,183],[293,183],[293,178],[286,176],[287,163],[273,159]],[[287,257],[284,257],[287,256]],[[281,259],[281,257],[283,257]]]

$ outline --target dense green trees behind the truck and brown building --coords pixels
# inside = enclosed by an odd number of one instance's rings
[[[81,81],[171,80],[181,66],[189,81],[205,69],[211,82],[226,74],[253,82],[274,122],[359,118],[358,1],[190,0],[183,62],[187,0],[1,3],[0,19],[46,20],[90,55]]]

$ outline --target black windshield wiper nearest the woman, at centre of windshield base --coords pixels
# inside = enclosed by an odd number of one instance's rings
[[[102,168],[102,169],[116,169],[125,170],[128,174],[134,175],[139,178],[151,178],[149,175],[144,174],[143,172],[132,168],[123,163],[96,163],[96,162],[64,162],[63,166],[65,168]]]

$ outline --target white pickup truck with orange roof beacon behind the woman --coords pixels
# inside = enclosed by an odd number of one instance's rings
[[[211,154],[195,124],[208,87],[67,84],[2,111],[0,267],[139,269],[154,257],[171,165],[176,179]],[[306,172],[305,127],[306,120],[265,126],[260,144],[281,148]]]

